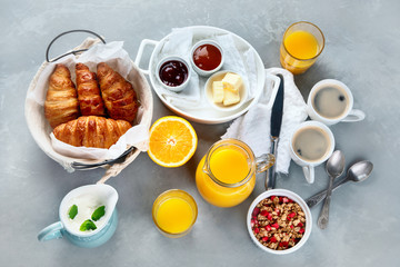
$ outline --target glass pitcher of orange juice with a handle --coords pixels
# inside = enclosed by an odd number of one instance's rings
[[[218,207],[241,204],[254,189],[256,174],[270,168],[273,155],[256,158],[248,145],[237,139],[224,139],[211,146],[196,171],[200,195]]]

